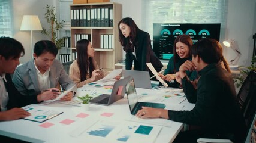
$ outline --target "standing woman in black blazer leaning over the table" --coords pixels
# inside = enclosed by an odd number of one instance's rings
[[[119,41],[125,54],[125,69],[131,70],[134,61],[134,70],[150,71],[146,63],[152,63],[156,71],[161,71],[163,65],[153,52],[149,33],[138,29],[132,18],[123,18],[118,23]],[[153,73],[150,71],[150,76]]]

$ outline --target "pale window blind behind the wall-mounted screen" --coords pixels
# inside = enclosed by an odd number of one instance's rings
[[[226,0],[143,0],[141,29],[153,38],[153,23],[221,23],[225,36]]]

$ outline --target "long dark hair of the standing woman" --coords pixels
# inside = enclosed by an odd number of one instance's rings
[[[131,29],[131,33],[130,33],[129,37],[127,37],[127,38],[125,38],[125,36],[122,34],[121,30],[119,29],[119,26],[121,23],[126,24]],[[119,30],[119,42],[124,47],[123,48],[124,51],[125,52],[127,52],[127,51],[134,52],[134,44],[135,44],[136,35],[137,35],[137,32],[140,31],[138,26],[135,24],[134,20],[132,20],[132,18],[130,18],[130,17],[123,18],[118,23],[118,30]]]

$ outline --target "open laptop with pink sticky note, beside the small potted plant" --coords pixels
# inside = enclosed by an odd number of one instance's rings
[[[113,85],[111,94],[101,94],[89,102],[91,102],[91,104],[110,105],[113,102],[122,99],[125,95],[125,85],[129,82],[129,79],[130,77],[126,77],[116,81]]]

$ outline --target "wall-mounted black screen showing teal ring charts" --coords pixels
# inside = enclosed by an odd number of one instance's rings
[[[219,41],[221,24],[153,24],[153,51],[162,60],[173,56],[173,43],[177,36],[191,36],[193,43],[201,38]]]

